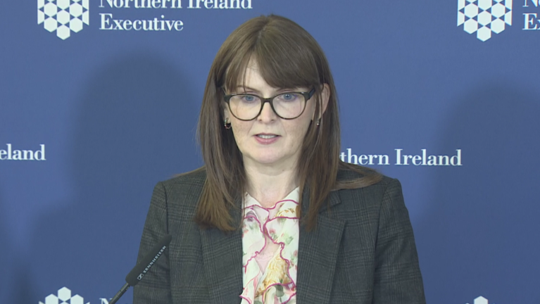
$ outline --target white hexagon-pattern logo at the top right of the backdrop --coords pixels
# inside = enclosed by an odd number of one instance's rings
[[[458,0],[458,26],[485,42],[512,25],[512,0]]]

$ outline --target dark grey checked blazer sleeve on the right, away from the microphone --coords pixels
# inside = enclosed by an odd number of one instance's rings
[[[372,303],[426,303],[413,227],[397,179],[389,182],[382,198]]]

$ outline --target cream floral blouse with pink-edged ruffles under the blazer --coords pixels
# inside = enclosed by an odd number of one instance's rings
[[[242,220],[241,304],[296,303],[299,188],[272,208],[246,194]]]

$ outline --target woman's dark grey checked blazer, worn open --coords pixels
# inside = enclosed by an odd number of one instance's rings
[[[339,172],[339,179],[356,173]],[[199,229],[196,205],[206,171],[156,185],[139,249],[142,255],[165,234],[170,247],[134,288],[134,304],[240,303],[240,229],[224,234]],[[303,214],[309,205],[303,194]],[[425,303],[413,229],[401,184],[384,177],[363,189],[333,191],[330,210],[299,236],[296,300],[312,303]],[[241,212],[234,213],[241,220]]]

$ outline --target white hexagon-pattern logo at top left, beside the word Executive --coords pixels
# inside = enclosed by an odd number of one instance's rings
[[[89,0],[37,0],[37,24],[65,40],[89,25]]]

